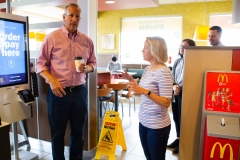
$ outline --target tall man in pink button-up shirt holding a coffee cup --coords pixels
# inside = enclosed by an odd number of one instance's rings
[[[49,84],[48,120],[51,129],[53,160],[65,160],[64,135],[68,121],[71,128],[71,160],[82,160],[83,133],[88,99],[86,74],[96,67],[92,40],[77,30],[81,9],[71,3],[65,7],[64,25],[48,34],[40,48],[37,73]],[[78,69],[74,58],[82,57]]]

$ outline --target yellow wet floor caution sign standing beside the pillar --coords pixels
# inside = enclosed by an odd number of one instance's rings
[[[101,155],[105,155],[108,156],[109,160],[114,160],[117,145],[122,146],[124,151],[127,150],[122,121],[118,112],[107,111],[103,120],[95,159],[100,159]]]

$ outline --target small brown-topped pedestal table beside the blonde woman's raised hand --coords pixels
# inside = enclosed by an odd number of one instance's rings
[[[121,80],[123,81],[124,79],[113,79],[113,80]],[[126,81],[126,79],[125,79]],[[128,81],[128,80],[127,80]],[[112,80],[111,80],[112,82]],[[116,82],[116,81],[113,81]],[[114,90],[114,105],[115,105],[115,111],[118,112],[118,91],[119,90],[123,90],[125,88],[127,88],[127,83],[110,83],[110,84],[106,84],[107,88],[112,88]]]

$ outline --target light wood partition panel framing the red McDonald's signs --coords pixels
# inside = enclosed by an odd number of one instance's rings
[[[232,49],[195,47],[195,49],[186,50],[180,160],[198,159],[205,70],[231,70],[231,66]]]

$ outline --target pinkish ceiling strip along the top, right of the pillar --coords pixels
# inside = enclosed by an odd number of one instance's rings
[[[122,10],[134,8],[158,7],[164,4],[219,2],[232,0],[115,0],[114,4],[106,4],[106,0],[98,0],[98,11]]]

